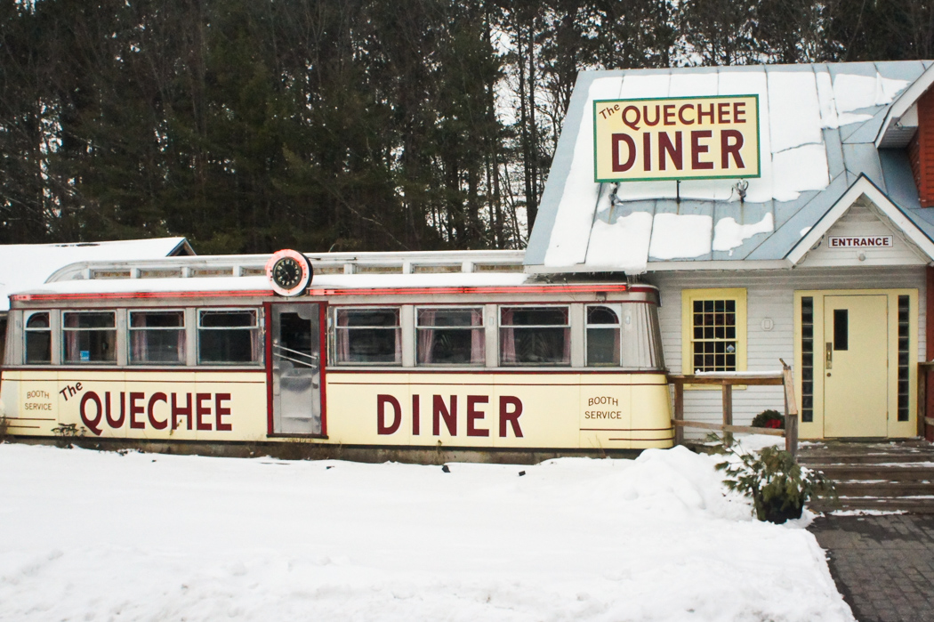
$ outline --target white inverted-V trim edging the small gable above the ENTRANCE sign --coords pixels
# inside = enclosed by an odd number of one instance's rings
[[[934,74],[932,74],[932,76],[934,76]],[[901,213],[901,210],[884,195],[883,191],[880,191],[869,178],[865,176],[860,176],[856,179],[849,190],[843,193],[837,203],[832,205],[830,209],[814,223],[811,231],[806,233],[804,237],[800,239],[800,242],[788,251],[788,254],[785,255],[785,259],[792,265],[798,265],[804,258],[804,255],[820,241],[829,231],[830,227],[832,227],[833,224],[846,213],[846,210],[855,204],[863,195],[870,200],[872,206],[875,208],[872,211],[881,212],[881,215],[884,216],[885,219],[888,219],[901,233],[904,233],[907,241],[911,242],[912,245],[917,247],[923,254],[923,259],[925,261],[931,262],[934,260],[934,243],[932,243],[927,238],[927,235],[918,229],[908,217]]]

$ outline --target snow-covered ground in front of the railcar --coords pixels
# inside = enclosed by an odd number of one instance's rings
[[[714,463],[0,445],[0,619],[852,620],[814,537]]]

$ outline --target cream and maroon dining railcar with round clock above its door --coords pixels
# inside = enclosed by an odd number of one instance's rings
[[[667,447],[657,307],[508,251],[81,263],[11,296],[0,400],[21,436]]]

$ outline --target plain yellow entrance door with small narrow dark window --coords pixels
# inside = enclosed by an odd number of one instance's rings
[[[823,346],[824,436],[885,436],[888,297],[825,296]]]

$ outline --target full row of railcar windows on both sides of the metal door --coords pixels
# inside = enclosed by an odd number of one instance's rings
[[[639,348],[639,360],[627,360],[623,348],[622,304],[585,306],[587,366],[660,367],[660,353]],[[637,306],[647,307],[639,304]],[[572,360],[570,305],[499,306],[499,364],[503,366],[569,366]],[[653,309],[654,310],[654,309]],[[333,352],[336,365],[402,365],[402,307],[334,307]],[[484,366],[488,327],[483,306],[416,307],[415,362],[426,366]],[[22,362],[27,365],[244,365],[262,364],[262,309],[183,309],[50,311],[24,314]],[[125,315],[124,315],[125,314]],[[191,315],[190,315],[191,314]],[[193,317],[192,317],[193,316]],[[187,322],[196,323],[193,337]],[[492,318],[490,318],[492,319]],[[642,332],[654,331],[651,319],[637,321]],[[492,322],[490,322],[492,323]],[[121,330],[122,328],[122,330]],[[491,327],[494,331],[497,327]],[[126,334],[125,354],[118,353],[119,334]],[[58,341],[57,335],[61,335]],[[60,356],[53,357],[56,344]],[[188,351],[195,349],[196,356]]]

